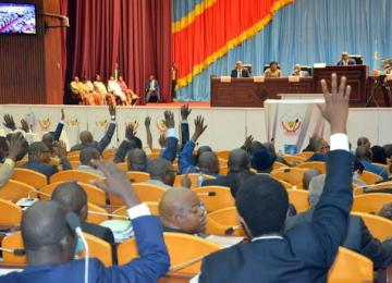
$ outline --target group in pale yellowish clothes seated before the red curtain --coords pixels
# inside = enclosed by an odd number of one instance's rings
[[[79,79],[74,76],[70,83],[70,103],[86,106],[135,106],[138,102],[138,95],[127,87],[124,78],[110,76],[105,84],[99,74],[96,74],[94,82],[86,76]]]

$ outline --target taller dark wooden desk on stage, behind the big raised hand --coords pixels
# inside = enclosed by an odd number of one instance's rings
[[[364,107],[366,103],[366,84],[368,77],[367,65],[348,65],[348,66],[326,66],[314,69],[315,93],[322,94],[320,81],[326,79],[331,85],[331,75],[336,73],[340,76],[346,76],[347,85],[351,85],[352,93],[350,96],[351,107]]]

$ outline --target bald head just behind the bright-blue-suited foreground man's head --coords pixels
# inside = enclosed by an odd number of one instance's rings
[[[68,211],[76,213],[82,221],[86,220],[87,194],[76,182],[60,184],[52,194],[52,200],[59,201]]]

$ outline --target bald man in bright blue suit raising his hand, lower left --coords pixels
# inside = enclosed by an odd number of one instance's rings
[[[157,282],[170,264],[158,218],[140,204],[124,172],[113,163],[96,162],[106,175],[99,186],[120,196],[127,207],[135,231],[139,258],[124,266],[106,268],[98,259],[89,259],[88,282]],[[23,213],[22,237],[27,268],[0,276],[0,282],[83,282],[85,260],[74,260],[76,235],[65,219],[66,211],[56,201],[38,201]]]

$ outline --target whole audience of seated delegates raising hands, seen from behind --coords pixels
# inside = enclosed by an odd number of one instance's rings
[[[73,146],[71,151],[79,151],[78,171],[93,173],[97,177],[105,176],[105,181],[97,180],[94,184],[107,194],[122,198],[135,232],[140,259],[113,268],[105,268],[94,259],[90,262],[90,280],[118,279],[123,282],[125,279],[122,276],[125,276],[135,282],[155,282],[169,268],[162,230],[203,238],[207,236],[209,211],[201,204],[200,196],[192,189],[195,184],[192,184],[194,181],[191,174],[200,176],[196,186],[218,185],[230,189],[241,225],[248,238],[247,243],[206,256],[199,282],[326,281],[339,246],[368,257],[375,270],[389,267],[392,261],[392,241],[378,241],[366,223],[350,212],[353,180],[360,180],[360,172],[372,170],[380,175],[381,182],[388,182],[392,173],[392,147],[371,147],[368,139],[359,138],[355,152],[351,151],[345,132],[350,87],[346,88],[342,81],[340,90],[333,94],[330,94],[323,82],[326,106],[321,111],[331,124],[332,135],[330,143],[322,137],[311,137],[306,147],[311,153],[303,162],[322,162],[327,173],[321,174],[316,169],[304,170],[302,188],[309,193],[309,209],[296,216],[293,216],[295,209],[287,213],[295,206],[289,199],[287,189],[281,181],[271,176],[277,172],[274,165],[278,162],[285,169],[295,168],[296,164],[285,161],[284,156],[275,152],[273,145],[254,140],[252,136],[246,138],[244,145],[233,148],[226,161],[222,161],[208,145],[197,147],[208,125],[203,116],[196,116],[195,130],[191,135],[188,119],[192,110],[187,106],[181,109],[180,137],[175,131],[174,114],[164,112],[167,132],[159,137],[161,149],[158,158],[150,155],[154,150],[149,128],[151,119],[147,116],[145,126],[148,148],[136,136],[134,125],[128,124],[125,138],[110,160],[113,162],[103,161],[102,155],[117,126],[115,108],[109,107],[111,122],[105,137],[96,142],[90,132],[84,131],[79,135],[81,144]],[[7,119],[10,121],[10,116]],[[10,122],[5,124],[11,125]],[[69,170],[68,155],[59,140],[62,126],[63,122],[60,122],[53,133],[42,137],[42,142],[28,145],[28,162],[22,167],[41,172],[48,179],[59,170]],[[24,157],[20,153],[24,143],[20,133],[0,138],[0,192],[12,177],[15,162]],[[53,159],[58,163],[53,164]],[[353,167],[355,159],[356,167]],[[122,162],[126,162],[131,172],[148,173],[150,177],[145,184],[158,186],[164,192],[159,200],[159,218],[149,216],[147,206],[140,204],[134,185],[115,165]],[[222,162],[226,163],[228,173],[220,171]],[[379,170],[373,170],[373,167]],[[175,185],[177,174],[182,175],[181,185]],[[365,193],[375,192],[369,189]],[[392,189],[388,193],[392,193]],[[391,206],[387,205],[380,214],[390,218],[390,212]],[[56,187],[51,200],[38,201],[23,214],[21,230],[28,268],[24,272],[0,278],[0,281],[27,282],[34,276],[39,282],[49,275],[59,280],[62,276],[69,281],[83,280],[84,263],[73,260],[77,239],[68,227],[64,218],[66,213],[76,214],[82,230],[107,241],[112,247],[113,262],[117,262],[113,234],[108,229],[87,223],[87,195],[78,183],[66,182]],[[58,233],[50,233],[51,230]]]

